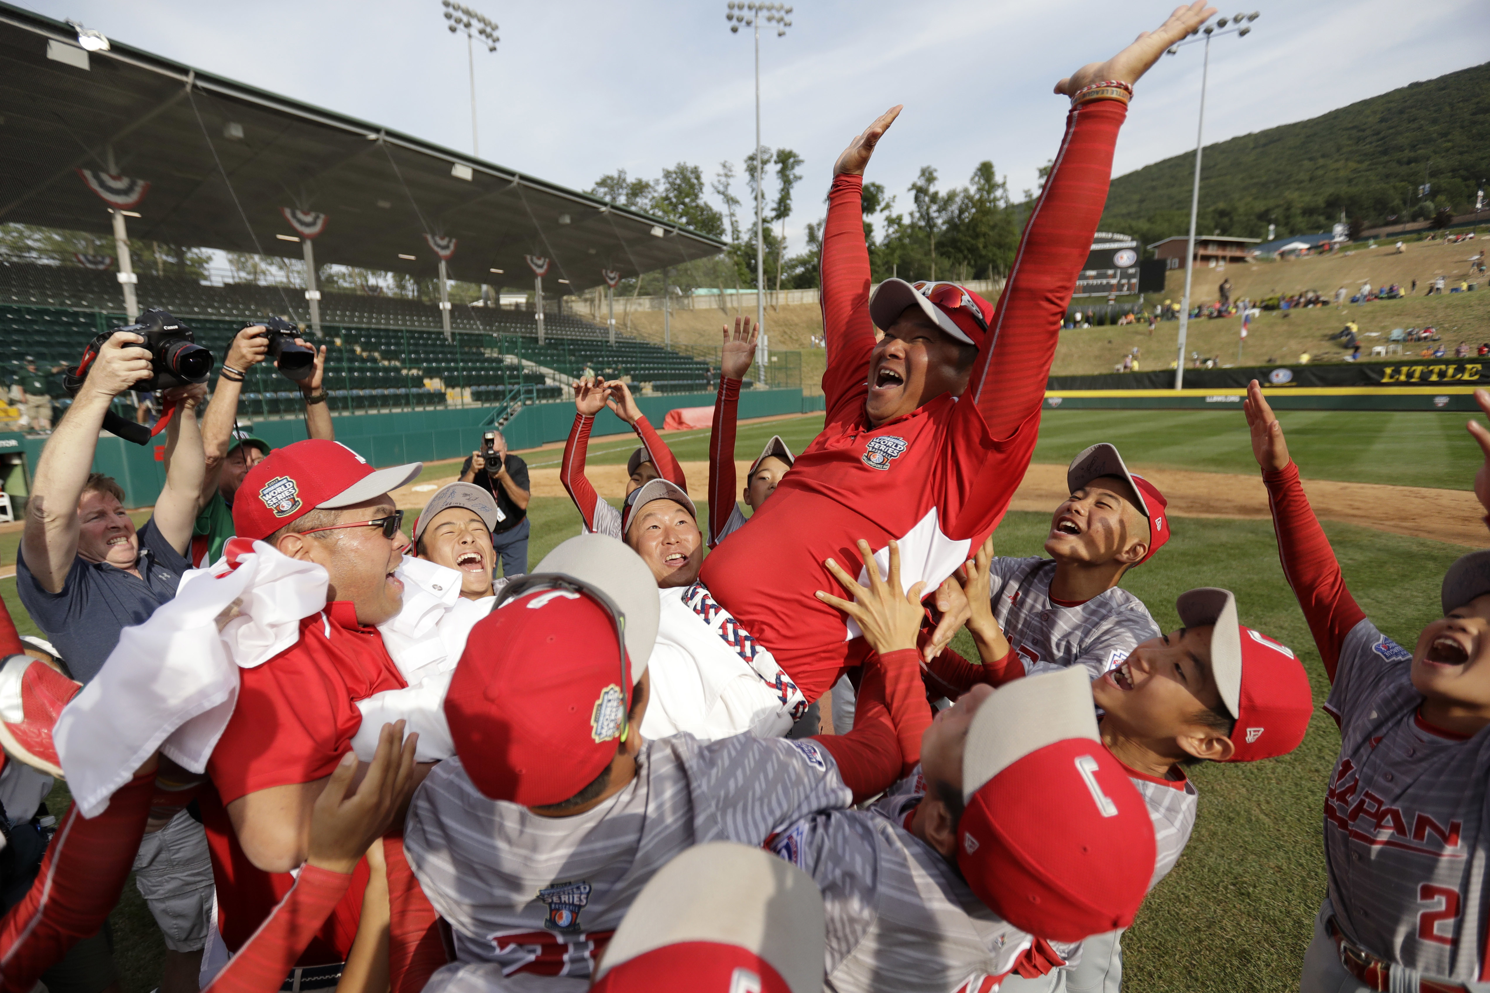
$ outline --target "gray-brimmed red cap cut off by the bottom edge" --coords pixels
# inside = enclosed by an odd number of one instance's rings
[[[749,846],[699,844],[636,895],[590,989],[818,993],[824,935],[822,893],[811,875]]]

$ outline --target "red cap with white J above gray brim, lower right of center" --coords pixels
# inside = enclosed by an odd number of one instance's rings
[[[1153,877],[1149,808],[1098,737],[1080,665],[994,691],[963,752],[957,863],[983,904],[1049,941],[1132,923]]]

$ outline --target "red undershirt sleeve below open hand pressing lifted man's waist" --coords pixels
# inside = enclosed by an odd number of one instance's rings
[[[812,738],[837,762],[855,804],[882,794],[921,761],[921,735],[931,724],[931,709],[919,671],[913,648],[866,661],[854,729]]]

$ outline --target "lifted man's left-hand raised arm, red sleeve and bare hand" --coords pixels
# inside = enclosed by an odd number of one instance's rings
[[[869,246],[864,243],[864,167],[879,138],[900,115],[900,106],[882,113],[839,155],[828,188],[828,216],[822,225],[822,338],[827,369],[822,372],[828,421],[852,414],[839,409],[857,399],[875,347],[869,319]]]

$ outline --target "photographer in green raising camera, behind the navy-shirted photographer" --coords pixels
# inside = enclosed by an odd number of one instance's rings
[[[301,338],[295,344],[307,345]],[[314,348],[311,372],[295,383],[305,400],[305,433],[310,438],[335,441],[326,392],[320,387],[326,369],[326,347]],[[228,357],[218,374],[218,389],[212,393],[207,415],[201,420],[201,444],[207,456],[207,475],[201,487],[201,512],[192,529],[191,561],[206,566],[222,557],[222,546],[232,537],[232,497],[238,484],[261,459],[270,454],[270,444],[237,430],[238,396],[247,371],[264,362],[270,353],[270,338],[264,325],[244,328],[228,345]],[[274,368],[279,368],[274,362]]]

